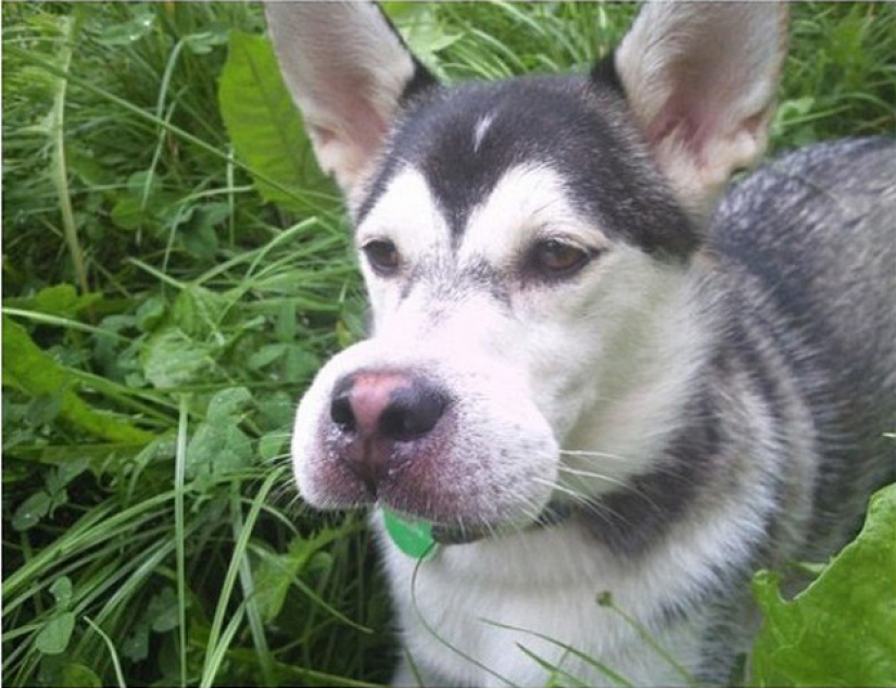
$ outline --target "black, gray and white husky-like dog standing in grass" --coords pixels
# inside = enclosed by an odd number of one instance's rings
[[[767,145],[785,4],[646,4],[589,74],[454,87],[375,5],[266,13],[371,305],[294,473],[374,506],[395,684],[727,684],[752,574],[829,556],[894,478],[894,143],[725,191]]]

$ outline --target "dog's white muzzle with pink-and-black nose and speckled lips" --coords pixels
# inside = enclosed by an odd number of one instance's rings
[[[377,504],[464,526],[462,540],[530,525],[551,499],[559,449],[526,379],[484,356],[460,356],[462,366],[441,350],[407,360],[402,346],[359,342],[308,388],[292,437],[307,503]]]

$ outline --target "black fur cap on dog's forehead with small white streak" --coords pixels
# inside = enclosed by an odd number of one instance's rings
[[[393,178],[413,168],[459,242],[470,213],[508,173],[542,167],[602,230],[660,254],[687,255],[697,235],[629,117],[621,93],[584,76],[444,89],[399,123],[355,220],[361,223]]]

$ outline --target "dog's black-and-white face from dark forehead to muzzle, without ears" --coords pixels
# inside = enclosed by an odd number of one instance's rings
[[[602,104],[622,120],[608,87],[539,80],[439,93],[408,113],[356,210],[373,336],[324,368],[296,420],[312,503],[379,499],[470,529],[531,521],[568,488],[559,450],[600,401],[613,374],[602,362],[636,355],[632,333],[696,246]],[[636,202],[626,184],[643,186]],[[343,387],[374,405],[371,425],[403,396],[438,399],[439,417],[407,437],[346,431],[331,412]]]

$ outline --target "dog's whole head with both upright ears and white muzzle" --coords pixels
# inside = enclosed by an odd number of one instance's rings
[[[765,149],[782,7],[652,4],[590,75],[454,88],[374,5],[267,16],[373,307],[300,404],[305,499],[482,531],[648,470],[699,349],[689,265]]]

